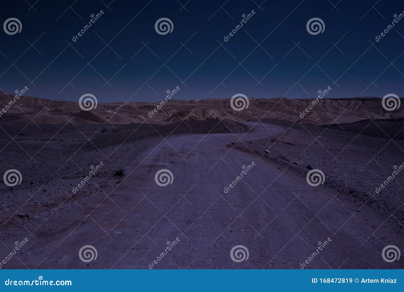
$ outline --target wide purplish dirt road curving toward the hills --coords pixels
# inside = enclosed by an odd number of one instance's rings
[[[36,258],[46,257],[41,267],[85,268],[77,253],[89,244],[98,256],[87,265],[98,269],[299,269],[306,260],[309,269],[397,268],[386,265],[374,242],[363,243],[360,215],[352,218],[353,207],[325,186],[311,187],[305,177],[227,147],[284,130],[257,124],[242,134],[170,137],[146,151],[140,165],[124,166],[130,175],[110,195],[120,209],[105,200],[82,210],[91,212],[84,223],[82,214],[55,222],[47,238],[38,236]],[[173,174],[166,186],[155,181],[161,169]],[[231,256],[238,245],[248,250],[240,262]]]

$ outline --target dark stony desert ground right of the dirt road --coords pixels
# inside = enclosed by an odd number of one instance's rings
[[[316,127],[263,121],[282,125],[287,130],[272,138],[247,145],[231,143],[228,147],[255,153],[266,162],[278,165],[280,170],[301,176],[309,172],[307,166],[322,170],[324,186],[339,200],[339,207],[351,214],[350,220],[358,225],[355,232],[364,236],[364,243],[377,239],[380,242],[374,248],[380,251],[390,244],[403,246],[404,173],[399,172],[385,188],[376,192],[376,187],[391,176],[394,166],[404,163],[400,124],[368,120],[348,124],[348,127]],[[376,137],[359,134],[362,132]],[[379,138],[382,133],[384,137]]]

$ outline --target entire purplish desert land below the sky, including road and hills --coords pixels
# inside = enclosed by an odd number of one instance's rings
[[[403,268],[383,254],[404,248],[403,111],[322,99],[301,118],[310,104],[172,100],[149,118],[157,103],[21,97],[0,118],[0,172],[21,174],[0,185],[1,268]]]

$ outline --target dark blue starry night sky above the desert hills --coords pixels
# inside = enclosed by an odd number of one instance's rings
[[[99,102],[160,101],[179,86],[175,99],[307,98],[330,86],[327,97],[404,96],[404,19],[375,42],[403,13],[402,0],[35,2],[0,2],[2,23],[15,17],[22,24],[18,34],[1,31],[0,88],[10,93],[28,86],[26,95],[48,99],[78,101],[91,93]],[[166,35],[154,28],[162,17],[174,26]],[[323,33],[307,32],[314,17],[324,21]]]

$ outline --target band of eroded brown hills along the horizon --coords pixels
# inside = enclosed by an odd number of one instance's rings
[[[0,111],[6,108],[14,96],[0,92]],[[404,100],[403,100],[404,101]],[[143,122],[166,124],[181,120],[229,119],[248,121],[253,118],[269,118],[302,123],[325,125],[334,122],[351,123],[369,118],[404,118],[403,107],[394,111],[383,109],[378,97],[352,97],[346,99],[286,99],[284,97],[263,99],[249,98],[246,109],[236,111],[230,106],[230,99],[168,100],[154,114],[160,102],[116,102],[98,103],[95,109],[84,111],[78,102],[55,101],[37,97],[20,97],[15,105],[1,112],[0,121],[35,123],[131,124]],[[305,109],[310,109],[304,112]],[[304,114],[305,113],[305,114]],[[303,118],[302,118],[303,116]]]

